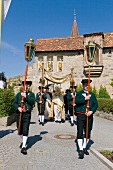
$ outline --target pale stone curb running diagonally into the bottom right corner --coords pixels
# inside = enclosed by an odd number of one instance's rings
[[[90,152],[96,156],[104,165],[106,165],[109,169],[113,170],[113,163],[105,158],[99,151],[94,148],[90,149]]]

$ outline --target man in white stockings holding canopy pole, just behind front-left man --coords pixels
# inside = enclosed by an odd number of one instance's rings
[[[47,100],[46,93],[44,92],[44,87],[39,86],[40,92],[36,94],[36,102],[39,112],[39,124],[42,124],[44,126],[44,111],[45,111],[45,103]]]

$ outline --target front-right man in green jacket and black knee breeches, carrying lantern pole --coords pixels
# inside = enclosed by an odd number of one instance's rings
[[[92,80],[90,80],[90,83]],[[79,146],[79,158],[83,159],[84,154],[89,155],[86,145],[89,141],[92,125],[93,114],[98,108],[98,102],[95,94],[90,92],[88,95],[88,79],[82,80],[83,90],[76,95],[76,113],[77,113],[77,141]],[[87,112],[87,101],[89,100],[89,111]],[[88,116],[88,140],[86,141],[86,119]],[[84,136],[83,136],[83,133]]]

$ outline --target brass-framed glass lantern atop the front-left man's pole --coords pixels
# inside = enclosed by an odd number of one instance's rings
[[[27,62],[31,61],[35,52],[35,44],[32,38],[29,39],[24,45],[25,60]]]

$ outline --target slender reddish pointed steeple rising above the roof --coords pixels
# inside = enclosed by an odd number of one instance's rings
[[[72,26],[71,37],[77,37],[77,36],[78,36],[78,27],[77,27],[77,22],[76,22],[76,12],[74,10],[74,22]]]

